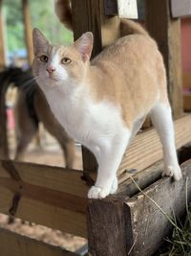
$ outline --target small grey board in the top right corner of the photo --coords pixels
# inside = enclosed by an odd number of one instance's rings
[[[190,0],[171,0],[171,10],[173,17],[191,16]]]

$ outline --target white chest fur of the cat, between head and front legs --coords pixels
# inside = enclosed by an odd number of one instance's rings
[[[43,91],[58,122],[89,149],[123,127],[120,109],[112,103],[95,103],[81,91],[66,95],[59,86]]]

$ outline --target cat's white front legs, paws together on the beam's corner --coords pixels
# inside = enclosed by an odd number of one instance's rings
[[[96,184],[89,193],[88,198],[105,198],[117,191],[117,169],[131,137],[127,128],[115,135],[112,139],[104,138],[98,147],[98,172]]]

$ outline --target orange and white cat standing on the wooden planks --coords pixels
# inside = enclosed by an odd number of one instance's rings
[[[125,24],[133,34],[117,39],[92,61],[92,33],[70,46],[54,46],[33,30],[36,81],[61,126],[96,156],[96,184],[88,198],[116,193],[123,153],[148,113],[163,146],[164,175],[181,178],[163,59],[138,24]]]

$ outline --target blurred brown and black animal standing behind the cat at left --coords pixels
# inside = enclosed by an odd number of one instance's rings
[[[9,67],[0,73],[2,84],[13,82],[18,88],[15,103],[17,146],[14,159],[22,161],[24,152],[36,135],[39,123],[58,141],[63,150],[66,168],[74,165],[74,141],[67,135],[64,128],[56,121],[51,109],[32,77],[32,70],[22,70],[18,67]]]

